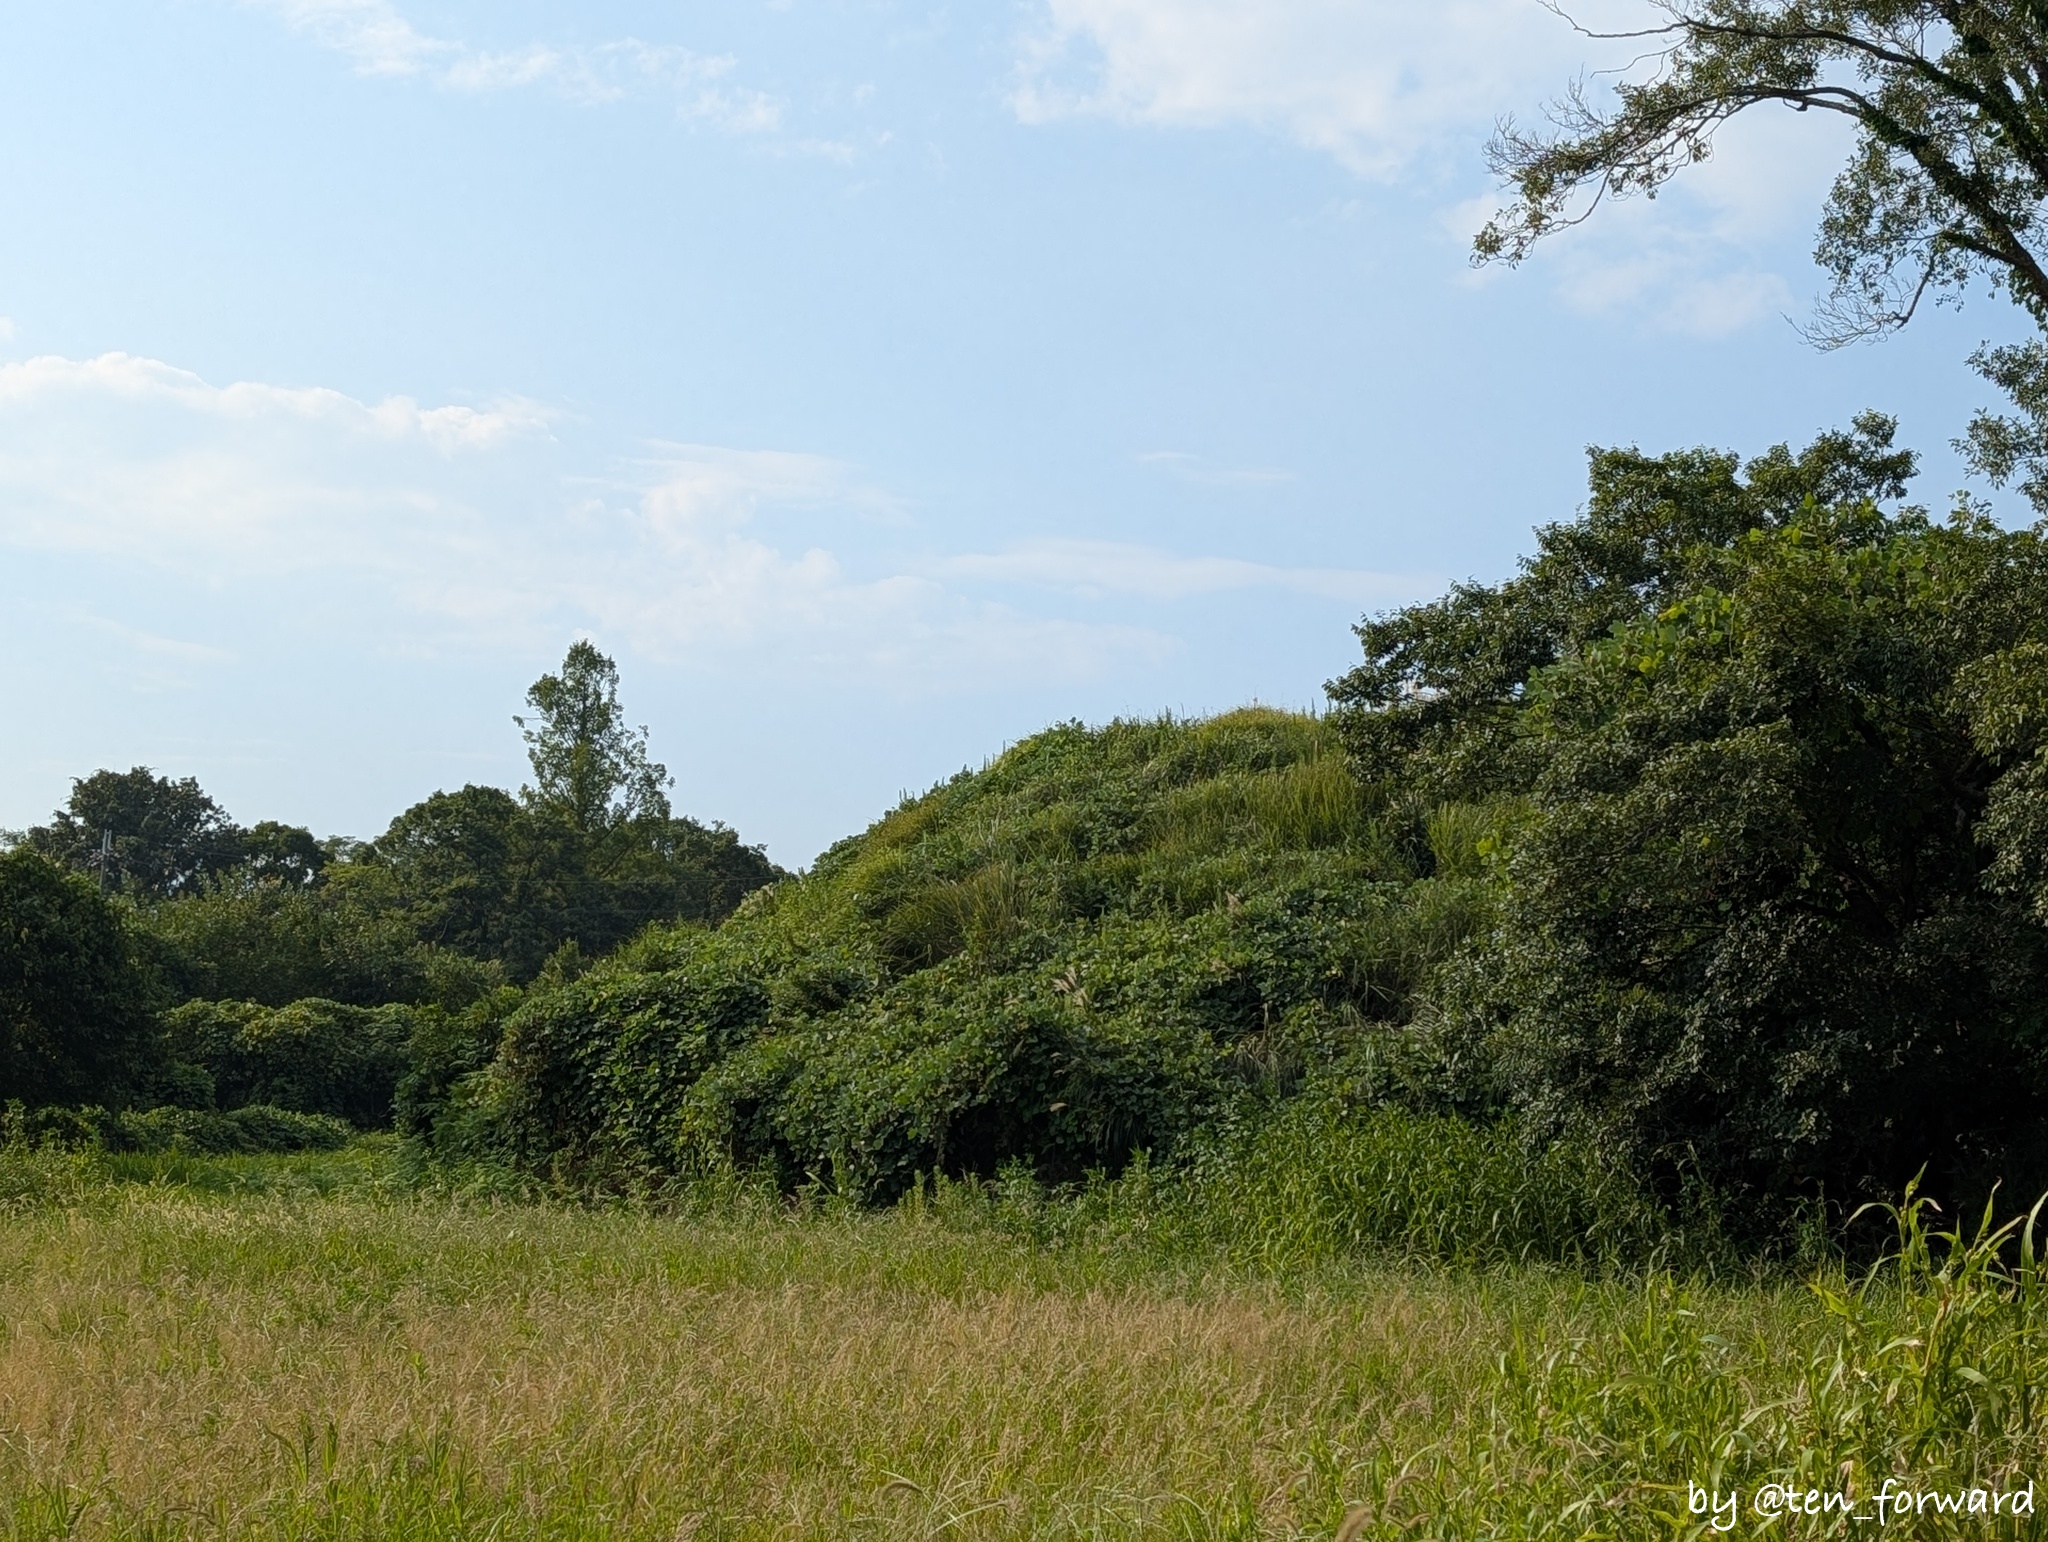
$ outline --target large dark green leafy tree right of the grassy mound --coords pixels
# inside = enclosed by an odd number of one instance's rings
[[[2048,545],[1896,506],[1888,434],[1595,453],[1360,629],[1354,760],[1499,879],[1421,1014],[1470,1102],[1753,1200],[2048,1177]]]

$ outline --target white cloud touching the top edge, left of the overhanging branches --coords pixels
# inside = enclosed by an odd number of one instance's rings
[[[1047,0],[1012,104],[1026,123],[1255,125],[1393,176],[1581,59],[1538,0]]]

